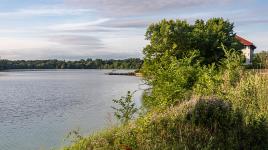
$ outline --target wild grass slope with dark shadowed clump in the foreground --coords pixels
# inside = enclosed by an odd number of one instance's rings
[[[230,103],[191,100],[79,139],[64,150],[266,149],[267,139],[266,122],[246,123]]]

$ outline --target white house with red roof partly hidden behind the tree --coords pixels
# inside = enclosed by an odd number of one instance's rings
[[[248,40],[246,40],[238,35],[236,35],[235,38],[241,44],[244,45],[244,49],[242,49],[242,52],[246,58],[245,64],[250,65],[252,63],[252,60],[253,60],[254,50],[256,49],[256,46],[252,42],[250,42],[250,41],[248,41]]]

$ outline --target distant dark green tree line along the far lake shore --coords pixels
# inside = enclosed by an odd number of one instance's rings
[[[0,60],[3,69],[139,69],[143,61],[139,58],[124,60],[86,59],[65,60]]]

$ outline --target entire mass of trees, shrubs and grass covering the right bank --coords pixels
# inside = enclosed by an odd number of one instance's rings
[[[268,76],[246,71],[234,35],[221,18],[151,25],[147,112],[64,149],[268,149]]]

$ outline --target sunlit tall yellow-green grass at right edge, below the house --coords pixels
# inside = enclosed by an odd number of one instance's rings
[[[268,76],[249,73],[235,87],[227,88],[226,99],[238,109],[268,119]]]

